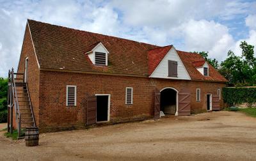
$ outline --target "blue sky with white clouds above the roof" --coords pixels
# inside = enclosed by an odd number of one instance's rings
[[[176,49],[223,61],[255,46],[256,0],[0,0],[0,77],[17,70],[27,19]]]

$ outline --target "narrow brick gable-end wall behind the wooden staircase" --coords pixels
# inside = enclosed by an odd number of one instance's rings
[[[28,57],[28,88],[29,95],[31,97],[31,104],[35,114],[36,125],[39,121],[39,68],[36,61],[36,56],[31,41],[28,25],[24,35],[24,42],[22,45],[22,51],[20,55],[20,61],[18,66],[18,73],[24,73],[25,59]]]

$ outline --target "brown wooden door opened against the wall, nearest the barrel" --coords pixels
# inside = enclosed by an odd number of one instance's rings
[[[87,98],[87,125],[96,123],[97,97],[88,96]]]

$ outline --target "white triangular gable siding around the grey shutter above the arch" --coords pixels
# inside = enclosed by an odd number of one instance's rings
[[[177,61],[177,77],[168,77],[168,61]],[[156,67],[154,72],[150,75],[152,78],[163,78],[163,79],[184,79],[191,80],[188,71],[183,65],[179,55],[177,54],[174,47],[168,51],[166,56],[162,59],[159,65]]]

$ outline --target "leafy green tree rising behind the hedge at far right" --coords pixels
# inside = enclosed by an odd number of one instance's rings
[[[256,85],[256,58],[253,45],[241,42],[242,55],[236,56],[232,50],[228,57],[221,62],[219,72],[226,77],[230,86]]]

